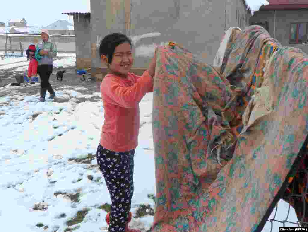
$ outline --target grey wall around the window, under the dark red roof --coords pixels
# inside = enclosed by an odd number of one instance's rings
[[[308,9],[300,10],[276,10],[276,33],[275,31],[275,10],[259,10],[250,18],[250,23],[268,21],[270,35],[277,39],[282,46],[301,48],[308,54],[308,45],[289,44],[290,24],[295,22],[308,22]]]

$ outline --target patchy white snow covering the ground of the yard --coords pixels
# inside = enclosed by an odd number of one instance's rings
[[[74,63],[74,54],[59,56],[62,59],[56,64],[60,65],[61,60],[63,66]],[[0,69],[21,67],[24,59],[1,58]],[[7,88],[23,87],[8,85],[0,88],[0,93]],[[72,86],[58,89],[57,96],[68,99],[62,103],[39,102],[39,94],[0,97],[0,221],[3,231],[63,232],[70,231],[67,228],[77,228],[74,231],[99,232],[106,229],[106,211],[100,206],[111,204],[111,201],[95,165],[104,120],[103,107],[99,92],[84,95],[79,92],[81,90],[85,89]],[[78,101],[93,96],[94,102]],[[148,196],[155,194],[151,118],[152,93],[149,93],[140,102],[142,126],[135,156],[133,213],[141,204],[155,208]],[[38,203],[41,205],[36,205]],[[288,206],[279,202],[276,220],[286,219]],[[35,210],[40,207],[48,209]],[[82,212],[87,214],[79,220]],[[297,221],[293,209],[288,220]],[[79,223],[73,225],[76,222]],[[147,215],[134,218],[131,225],[145,231],[152,222],[153,217]],[[278,231],[279,226],[282,224],[273,222],[272,231]],[[263,231],[270,231],[270,228],[268,222]]]

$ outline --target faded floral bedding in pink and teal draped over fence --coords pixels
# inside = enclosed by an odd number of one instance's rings
[[[156,52],[152,231],[261,231],[305,155],[308,56],[260,26],[232,34],[221,67]]]

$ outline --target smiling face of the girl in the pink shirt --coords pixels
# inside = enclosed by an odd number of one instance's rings
[[[108,62],[106,56],[102,55],[102,60]],[[120,77],[127,77],[128,72],[132,68],[134,58],[132,48],[129,43],[119,44],[113,53],[111,64],[109,66],[111,73],[115,73]]]

